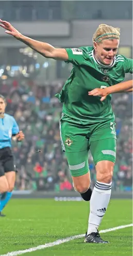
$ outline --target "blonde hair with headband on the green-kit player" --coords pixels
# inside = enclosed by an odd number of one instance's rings
[[[108,34],[108,35],[104,35],[104,34]],[[104,35],[104,36],[102,36]],[[99,38],[99,41],[102,41],[104,39],[108,39],[114,37],[116,39],[120,40],[120,29],[119,28],[114,28],[113,26],[109,26],[106,24],[99,24],[97,30],[95,31],[93,37],[92,37],[92,41],[96,42],[96,38],[102,36]],[[97,42],[98,42],[98,38],[97,38]]]

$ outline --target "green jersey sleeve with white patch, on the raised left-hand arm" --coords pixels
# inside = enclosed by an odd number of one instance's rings
[[[68,61],[67,63],[72,63],[76,65],[82,64],[82,61],[84,60],[84,53],[82,49],[80,48],[65,48],[65,50],[68,53]]]

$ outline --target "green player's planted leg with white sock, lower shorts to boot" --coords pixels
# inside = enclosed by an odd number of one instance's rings
[[[111,196],[111,182],[116,156],[116,139],[109,138],[90,143],[96,168],[96,184],[90,200],[88,237],[86,241],[105,242],[98,237],[97,230],[107,210]],[[92,235],[93,234],[93,235]],[[94,235],[95,234],[95,235]]]

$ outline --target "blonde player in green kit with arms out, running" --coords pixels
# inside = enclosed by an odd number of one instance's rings
[[[110,200],[117,139],[108,93],[111,93],[110,88],[115,92],[115,85],[124,80],[125,73],[132,73],[132,60],[117,55],[120,29],[101,24],[93,35],[93,47],[62,49],[22,35],[7,21],[0,22],[7,34],[42,56],[73,64],[70,77],[56,95],[63,103],[60,121],[62,149],[68,159],[75,190],[84,200],[90,200],[85,242],[107,243],[99,236],[98,226]],[[122,83],[118,88],[117,92],[130,91],[132,83]],[[99,93],[96,97],[95,92]],[[105,97],[104,100],[101,96]],[[96,169],[93,192],[90,188],[89,150]]]

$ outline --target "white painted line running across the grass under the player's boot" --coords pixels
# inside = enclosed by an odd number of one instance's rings
[[[110,231],[120,230],[121,228],[131,227],[131,226],[133,226],[133,224],[112,227],[112,228],[108,228],[108,230],[101,230],[101,231],[99,231],[99,233],[107,233],[107,232],[110,232]],[[84,237],[84,236],[85,236],[85,234],[70,236],[70,237],[67,237],[67,238],[56,240],[54,242],[49,242],[48,244],[45,244],[45,245],[39,245],[37,247],[31,247],[29,249],[20,250],[20,251],[8,252],[7,254],[3,254],[1,256],[18,256],[18,255],[21,255],[21,254],[26,253],[26,252],[42,250],[42,249],[45,249],[45,248],[48,248],[48,247],[53,247],[55,245],[61,245],[61,244],[64,244],[64,242],[69,242],[71,240],[81,238],[81,237]]]

